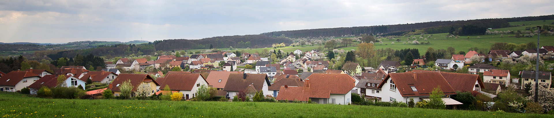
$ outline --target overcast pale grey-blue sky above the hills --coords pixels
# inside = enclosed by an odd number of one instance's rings
[[[0,0],[0,42],[202,39],[280,30],[554,14],[552,0]]]

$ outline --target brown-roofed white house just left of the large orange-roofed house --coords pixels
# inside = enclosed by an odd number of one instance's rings
[[[224,91],[227,91],[227,97],[233,97],[239,91],[263,91],[264,96],[271,95],[268,86],[271,85],[269,77],[266,74],[229,74]]]

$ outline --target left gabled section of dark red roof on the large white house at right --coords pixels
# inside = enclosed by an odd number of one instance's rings
[[[452,86],[448,84],[448,81],[444,79],[439,72],[391,73],[379,84],[378,88],[382,89],[384,83],[387,83],[389,79],[394,81],[397,91],[399,91],[403,97],[429,96],[431,91],[437,88],[437,86],[440,86],[444,95],[456,94]],[[413,91],[411,86],[415,86],[417,91]]]

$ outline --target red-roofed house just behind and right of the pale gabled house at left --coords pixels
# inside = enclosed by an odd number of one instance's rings
[[[99,83],[110,83],[115,78],[117,78],[117,74],[111,71],[89,71],[89,73],[86,73],[83,75],[83,77],[80,78],[80,80],[87,81],[90,79],[93,82],[99,82]]]

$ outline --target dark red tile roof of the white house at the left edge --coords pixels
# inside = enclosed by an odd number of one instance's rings
[[[6,75],[3,75],[0,78],[0,85],[15,86],[23,78],[28,78],[32,76],[38,76],[37,74],[30,73],[29,71],[11,71]]]

